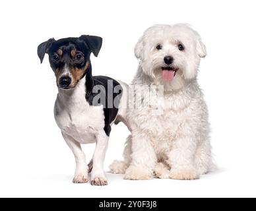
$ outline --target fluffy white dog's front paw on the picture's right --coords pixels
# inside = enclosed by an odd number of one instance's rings
[[[171,169],[170,178],[179,180],[199,179],[199,174],[193,168]]]

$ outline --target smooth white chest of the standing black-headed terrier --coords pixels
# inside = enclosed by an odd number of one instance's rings
[[[55,121],[62,133],[82,144],[96,142],[98,131],[104,129],[103,107],[86,102],[84,86],[65,94],[58,94],[54,107]]]

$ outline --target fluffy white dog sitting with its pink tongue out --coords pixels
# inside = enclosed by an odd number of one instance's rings
[[[133,98],[141,96],[149,106],[129,107],[132,135],[125,160],[110,166],[113,173],[125,173],[125,179],[198,179],[210,171],[208,111],[197,83],[206,55],[201,37],[187,24],[144,32],[135,46],[140,63],[132,84]]]

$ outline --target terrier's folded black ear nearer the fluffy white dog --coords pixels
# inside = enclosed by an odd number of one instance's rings
[[[98,36],[82,35],[79,40],[85,42],[90,48],[92,53],[97,57],[102,47],[102,38]]]

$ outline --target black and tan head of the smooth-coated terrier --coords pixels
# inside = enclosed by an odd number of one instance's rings
[[[49,39],[38,45],[38,57],[42,63],[45,53],[53,69],[58,88],[74,88],[86,75],[90,66],[90,53],[96,57],[102,47],[102,38],[82,35],[80,38]]]

